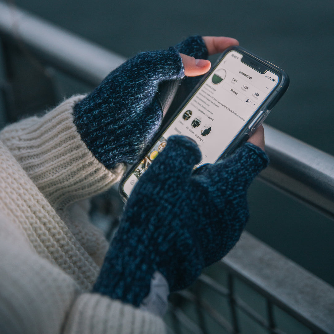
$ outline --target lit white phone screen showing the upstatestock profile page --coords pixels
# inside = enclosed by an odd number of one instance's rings
[[[230,51],[212,70],[173,122],[123,184],[127,196],[172,135],[192,138],[202,152],[195,166],[214,163],[279,83],[270,70],[260,73]]]

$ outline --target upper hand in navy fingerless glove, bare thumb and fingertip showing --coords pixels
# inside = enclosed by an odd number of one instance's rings
[[[81,139],[108,169],[135,162],[161,124],[159,83],[206,73],[210,62],[196,59],[236,43],[227,37],[194,36],[168,50],[129,59],[74,106]]]

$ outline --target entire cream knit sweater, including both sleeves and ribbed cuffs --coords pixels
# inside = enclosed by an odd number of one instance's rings
[[[0,132],[0,332],[164,333],[149,312],[90,290],[108,248],[85,200],[124,172],[81,141],[72,97]]]

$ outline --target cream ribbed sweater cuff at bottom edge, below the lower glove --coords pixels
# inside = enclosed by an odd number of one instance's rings
[[[82,294],[68,316],[65,334],[165,333],[163,320],[150,312],[99,294]]]

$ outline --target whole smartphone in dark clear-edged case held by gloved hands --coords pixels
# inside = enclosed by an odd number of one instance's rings
[[[288,86],[288,75],[277,66],[242,47],[226,49],[155,137],[144,158],[127,173],[119,189],[123,200],[163,151],[169,136],[195,140],[202,160],[194,168],[215,163],[256,131]]]

